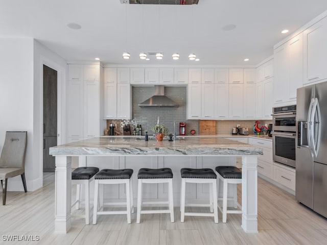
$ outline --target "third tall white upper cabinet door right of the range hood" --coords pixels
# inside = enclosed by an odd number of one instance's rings
[[[215,84],[215,118],[228,118],[228,83]]]

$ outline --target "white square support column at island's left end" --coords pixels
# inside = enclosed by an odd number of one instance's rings
[[[67,233],[71,228],[72,157],[56,156],[55,231]]]

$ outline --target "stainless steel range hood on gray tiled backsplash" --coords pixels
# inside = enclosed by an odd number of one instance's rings
[[[154,95],[148,100],[138,104],[139,107],[179,107],[173,100],[165,95],[164,85],[154,85]]]

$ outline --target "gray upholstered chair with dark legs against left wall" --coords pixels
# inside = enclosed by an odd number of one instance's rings
[[[6,132],[6,138],[0,156],[0,179],[3,189],[3,205],[6,205],[7,181],[20,175],[24,190],[27,192],[25,180],[25,154],[27,132]]]

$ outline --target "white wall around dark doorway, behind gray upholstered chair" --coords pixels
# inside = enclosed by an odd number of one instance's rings
[[[43,182],[43,64],[58,70],[61,107],[65,105],[61,98],[65,99],[66,62],[32,38],[0,39],[0,54],[0,150],[6,131],[28,131],[25,169],[27,188],[33,191]],[[59,109],[59,117],[61,133],[65,110]],[[19,176],[8,180],[8,190],[23,190]]]

